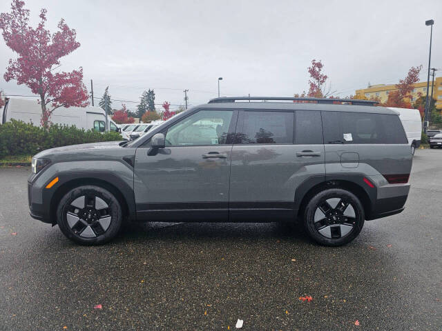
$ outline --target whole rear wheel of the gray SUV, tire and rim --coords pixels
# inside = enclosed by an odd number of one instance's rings
[[[347,190],[332,188],[316,194],[304,212],[304,227],[309,237],[326,246],[349,243],[364,226],[361,201]]]

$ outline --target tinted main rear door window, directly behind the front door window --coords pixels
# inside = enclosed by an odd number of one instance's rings
[[[235,143],[293,143],[294,112],[240,112]]]

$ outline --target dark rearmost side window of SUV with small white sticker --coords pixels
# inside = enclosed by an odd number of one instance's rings
[[[323,112],[325,143],[407,143],[397,115],[366,112]]]

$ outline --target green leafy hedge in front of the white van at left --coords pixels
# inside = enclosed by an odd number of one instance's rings
[[[8,155],[34,155],[48,148],[95,143],[98,141],[120,141],[118,132],[100,133],[75,126],[54,124],[48,130],[30,123],[12,119],[0,125],[0,158]]]

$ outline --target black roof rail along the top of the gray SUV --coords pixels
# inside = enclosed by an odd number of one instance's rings
[[[357,106],[374,106],[378,101],[374,100],[358,100],[358,99],[326,99],[326,98],[294,98],[294,97],[220,97],[209,100],[209,103],[224,103],[235,101],[299,101],[300,103],[336,103],[352,104]]]

